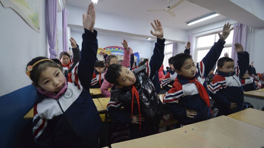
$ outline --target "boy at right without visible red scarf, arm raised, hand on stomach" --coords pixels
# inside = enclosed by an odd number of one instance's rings
[[[209,85],[209,95],[215,101],[211,118],[229,115],[243,110],[244,93],[241,78],[249,65],[249,54],[241,44],[235,43],[238,66],[234,60],[222,57],[217,62],[218,74]]]

